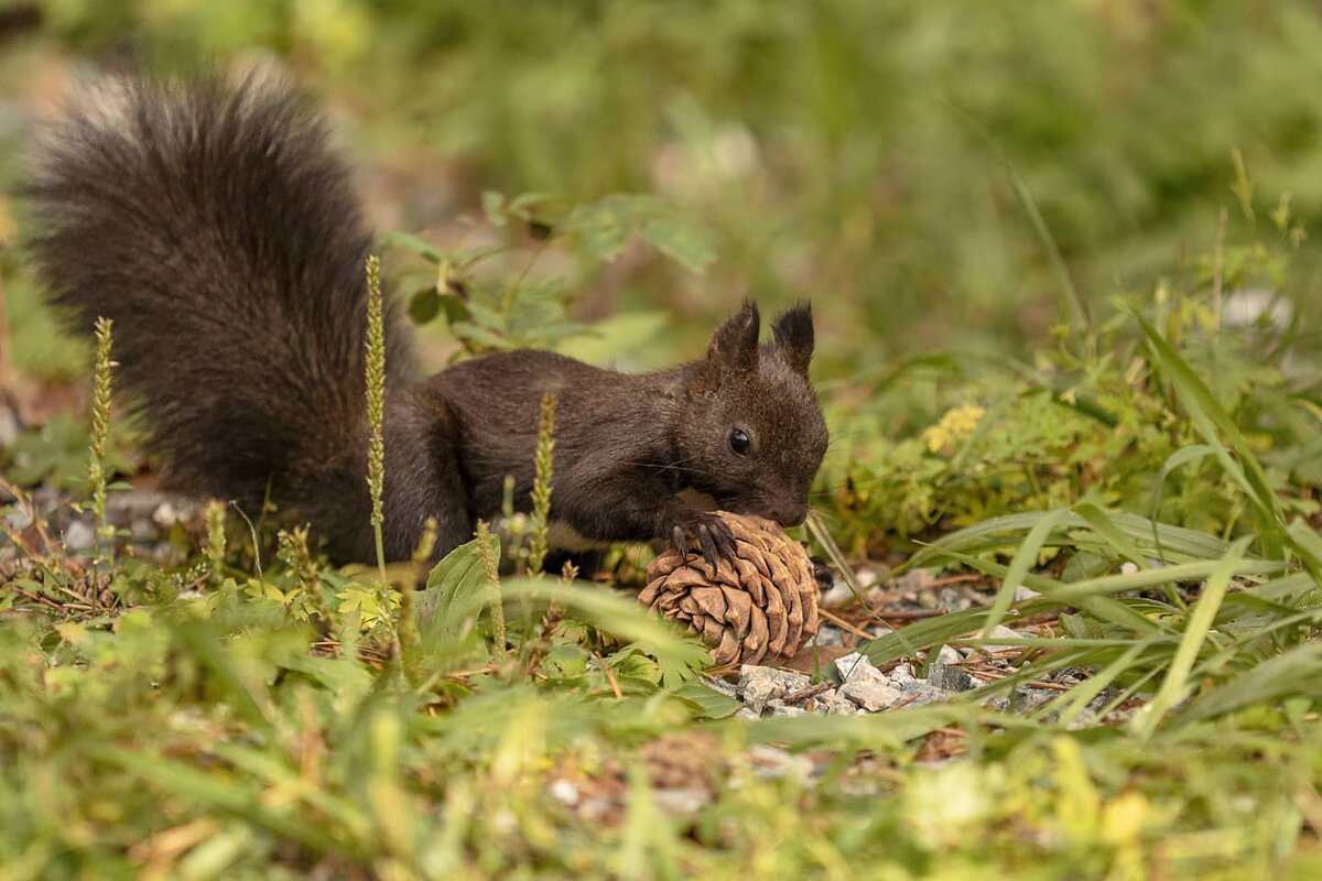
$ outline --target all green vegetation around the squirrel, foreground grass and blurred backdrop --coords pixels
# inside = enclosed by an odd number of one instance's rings
[[[28,532],[0,564],[0,878],[1322,873],[1306,4],[313,7],[45,4],[0,63],[126,28],[275,46],[371,151],[444,155],[459,205],[406,226],[473,223],[382,254],[446,355],[654,365],[710,330],[689,305],[813,296],[817,549],[992,590],[863,651],[1017,651],[948,703],[747,721],[628,590],[493,577],[537,523],[391,584],[223,509],[176,564],[108,573]],[[20,371],[90,374],[12,250],[0,273]],[[1248,289],[1303,308],[1224,321]],[[87,494],[77,419],[0,456]]]

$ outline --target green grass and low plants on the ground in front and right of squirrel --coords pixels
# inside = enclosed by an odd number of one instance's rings
[[[1038,623],[945,704],[735,719],[703,647],[627,593],[492,589],[484,555],[520,553],[490,536],[412,604],[288,535],[258,571],[214,516],[193,559],[124,559],[108,594],[38,547],[41,576],[0,588],[7,877],[1311,877],[1319,409],[1280,329],[1208,325],[1224,283],[1132,299],[1091,359],[928,358],[851,407],[874,380],[836,387],[825,528],[997,585],[865,652]],[[1272,354],[1236,378],[1248,351]],[[995,709],[1064,668],[1080,684]],[[676,774],[701,794],[678,814]]]

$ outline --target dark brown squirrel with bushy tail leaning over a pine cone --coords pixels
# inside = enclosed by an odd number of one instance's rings
[[[375,559],[366,485],[371,243],[327,127],[276,77],[238,85],[104,77],[36,141],[29,252],[50,302],[86,333],[114,321],[115,382],[176,487],[271,498],[336,561]],[[596,543],[673,542],[709,559],[728,530],[681,499],[797,524],[826,448],[808,383],[808,305],[759,346],[758,308],[705,358],[627,375],[545,351],[418,380],[386,313],[385,552],[424,523],[436,553],[497,518],[506,476],[530,510],[539,402],[557,398],[553,523]]]

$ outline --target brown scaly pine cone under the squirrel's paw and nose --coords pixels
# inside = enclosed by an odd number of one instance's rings
[[[674,548],[648,567],[639,601],[681,621],[711,646],[719,664],[792,656],[817,633],[817,580],[808,552],[775,522],[718,511],[735,536],[715,569]]]

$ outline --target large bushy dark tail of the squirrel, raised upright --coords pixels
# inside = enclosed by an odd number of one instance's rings
[[[114,320],[116,383],[184,489],[365,505],[370,238],[325,141],[308,104],[260,74],[106,77],[36,141],[38,276],[79,332]],[[412,363],[393,312],[386,338],[398,388]]]

